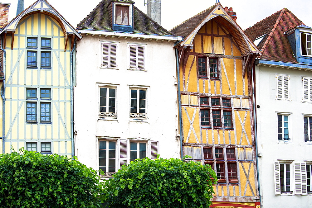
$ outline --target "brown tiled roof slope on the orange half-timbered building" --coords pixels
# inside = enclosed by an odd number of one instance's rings
[[[189,35],[208,16],[208,14],[212,12],[215,6],[216,4],[182,22],[178,26],[172,28],[170,32],[182,37]]]

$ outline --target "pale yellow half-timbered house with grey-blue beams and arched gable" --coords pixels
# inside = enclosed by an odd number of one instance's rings
[[[45,0],[1,31],[3,153],[73,155],[75,42],[81,36]]]

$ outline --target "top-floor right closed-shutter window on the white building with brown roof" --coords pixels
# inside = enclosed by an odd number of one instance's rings
[[[129,45],[130,66],[129,69],[144,69],[144,45]]]

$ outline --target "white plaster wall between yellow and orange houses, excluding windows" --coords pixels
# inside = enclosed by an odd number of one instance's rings
[[[129,39],[129,38],[128,38]],[[101,41],[118,44],[118,69],[100,68]],[[145,45],[146,71],[129,68],[127,43]],[[143,138],[159,141],[159,154],[163,158],[179,158],[178,106],[176,64],[173,42],[113,39],[85,36],[77,44],[76,87],[74,91],[74,121],[76,154],[88,167],[99,169],[98,137],[120,139]],[[97,83],[117,85],[117,119],[99,119],[99,90]],[[129,85],[147,87],[147,114],[144,122],[130,121]],[[113,120],[113,119],[110,119]],[[129,153],[129,150],[128,150]],[[129,154],[128,154],[129,157]]]

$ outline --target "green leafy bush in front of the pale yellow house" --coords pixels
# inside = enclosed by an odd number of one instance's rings
[[[99,207],[99,176],[73,159],[35,151],[0,154],[1,206]]]

